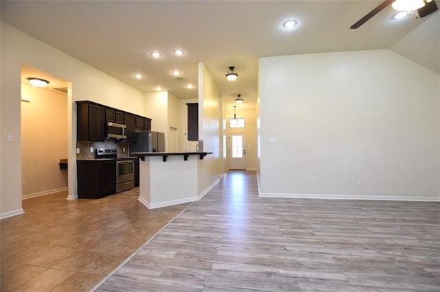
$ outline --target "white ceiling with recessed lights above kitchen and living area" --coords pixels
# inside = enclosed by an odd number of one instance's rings
[[[260,57],[388,49],[434,15],[396,21],[388,6],[349,28],[381,2],[1,0],[0,8],[2,21],[144,92],[159,85],[197,98],[197,88],[184,85],[197,85],[197,63],[204,62],[226,104],[241,94],[245,107],[255,105]],[[297,27],[283,29],[287,19]],[[184,56],[173,56],[177,48]],[[162,58],[151,58],[155,50]],[[226,80],[228,66],[236,67],[236,82]],[[171,75],[175,69],[183,80]]]

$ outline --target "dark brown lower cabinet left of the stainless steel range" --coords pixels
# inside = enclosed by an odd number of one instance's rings
[[[116,160],[77,160],[78,198],[98,199],[116,192]]]

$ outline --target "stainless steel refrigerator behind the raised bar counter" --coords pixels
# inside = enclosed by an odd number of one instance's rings
[[[162,132],[137,132],[136,143],[130,144],[130,153],[133,152],[164,152],[165,134]]]

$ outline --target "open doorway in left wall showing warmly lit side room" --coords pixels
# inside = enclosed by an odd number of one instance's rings
[[[30,78],[47,80],[48,84],[32,86]],[[69,188],[69,173],[65,163],[63,167],[60,164],[61,160],[67,162],[69,148],[67,86],[65,80],[50,73],[21,66],[22,199]]]

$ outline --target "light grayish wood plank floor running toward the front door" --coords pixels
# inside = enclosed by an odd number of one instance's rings
[[[440,291],[440,204],[258,196],[230,172],[98,291]]]

